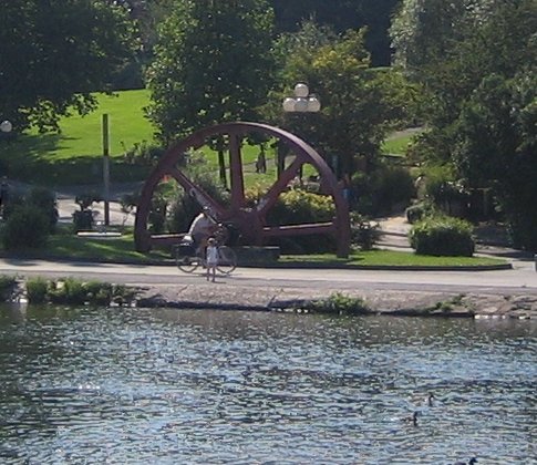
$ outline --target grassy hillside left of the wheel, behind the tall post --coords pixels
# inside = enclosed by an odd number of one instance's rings
[[[99,107],[85,116],[60,121],[60,134],[30,131],[0,144],[0,170],[9,177],[43,185],[94,184],[102,179],[102,117],[109,114],[112,173],[117,180],[143,176],[147,168],[122,163],[125,149],[153,141],[153,127],[144,117],[149,103],[146,90],[114,95],[97,94]]]

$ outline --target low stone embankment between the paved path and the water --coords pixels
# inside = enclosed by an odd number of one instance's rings
[[[537,319],[536,294],[462,294],[401,290],[342,291],[363,299],[371,313],[450,318]],[[324,290],[264,289],[225,285],[153,286],[140,289],[138,307],[277,311],[330,298]]]

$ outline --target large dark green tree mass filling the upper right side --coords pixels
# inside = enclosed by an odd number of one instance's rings
[[[426,100],[415,152],[452,165],[471,188],[490,188],[516,244],[536,249],[537,2],[457,0],[444,23],[446,6],[404,0],[394,23],[400,64]]]

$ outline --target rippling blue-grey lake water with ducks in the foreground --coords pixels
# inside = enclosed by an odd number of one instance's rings
[[[531,321],[0,308],[0,463],[531,464],[536,362]]]

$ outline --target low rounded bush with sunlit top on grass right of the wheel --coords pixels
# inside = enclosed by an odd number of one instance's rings
[[[475,249],[472,231],[473,227],[466,220],[428,217],[413,225],[410,241],[417,254],[472,257]]]

